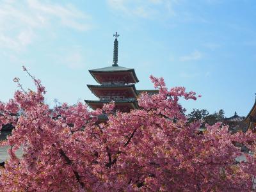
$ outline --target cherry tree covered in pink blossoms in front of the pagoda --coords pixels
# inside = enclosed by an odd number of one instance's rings
[[[28,72],[26,68],[24,71]],[[117,112],[115,103],[92,111],[86,104],[51,109],[45,88],[20,90],[0,103],[0,125],[15,129],[1,146],[11,146],[0,169],[0,191],[252,191],[255,159],[236,162],[240,142],[255,148],[248,131],[230,134],[227,126],[188,122],[179,99],[196,93],[168,90],[163,78],[150,77],[159,94],[142,93],[140,109]],[[108,113],[106,124],[97,116]],[[17,115],[19,114],[19,115]],[[22,147],[23,156],[15,151]]]

